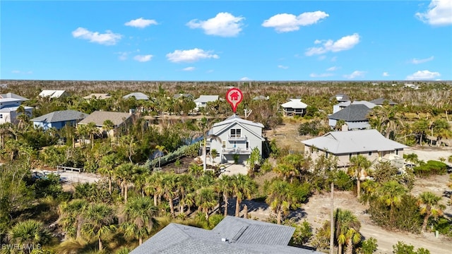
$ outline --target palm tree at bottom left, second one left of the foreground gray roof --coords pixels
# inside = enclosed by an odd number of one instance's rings
[[[84,215],[85,223],[82,226],[82,234],[88,239],[97,237],[99,250],[102,251],[102,239],[116,230],[114,225],[114,211],[105,204],[92,204]]]

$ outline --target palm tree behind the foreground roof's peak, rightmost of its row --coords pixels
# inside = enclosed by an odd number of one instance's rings
[[[239,217],[240,203],[244,198],[251,198],[251,194],[256,191],[256,182],[249,176],[242,174],[234,175],[232,178],[232,193],[236,198],[235,202],[235,217]]]

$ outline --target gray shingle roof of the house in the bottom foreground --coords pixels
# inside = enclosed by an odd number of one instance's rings
[[[170,223],[131,254],[319,253],[287,246],[294,232],[292,226],[232,216],[226,216],[212,230]]]

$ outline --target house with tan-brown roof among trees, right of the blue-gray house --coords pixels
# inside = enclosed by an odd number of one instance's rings
[[[100,133],[103,135],[108,134],[109,136],[113,136],[121,127],[131,123],[132,116],[133,114],[131,114],[131,112],[94,111],[78,124],[95,123],[97,128],[99,128]],[[110,131],[110,133],[107,133],[104,128],[104,122],[106,120],[112,121],[114,125],[114,128]]]

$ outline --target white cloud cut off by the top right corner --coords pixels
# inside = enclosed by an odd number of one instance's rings
[[[452,1],[432,0],[429,8],[424,13],[416,13],[415,16],[424,23],[430,25],[451,25],[452,24]]]

